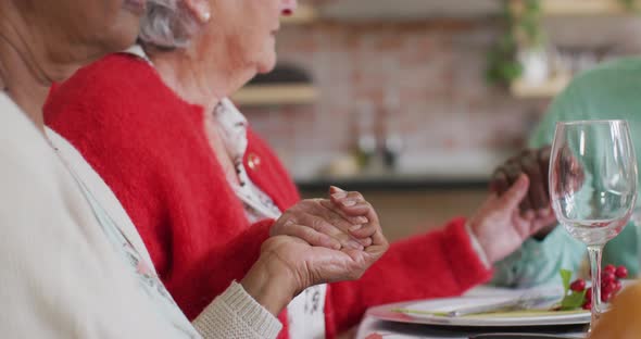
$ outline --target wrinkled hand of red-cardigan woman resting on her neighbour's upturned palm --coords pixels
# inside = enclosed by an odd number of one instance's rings
[[[331,200],[307,199],[287,210],[272,226],[269,235],[292,236],[312,246],[335,250],[363,250],[370,246],[372,236],[380,230],[372,205],[357,192],[345,192],[332,187],[330,193]],[[348,196],[351,198],[347,198]],[[339,202],[349,199],[357,202],[351,205]],[[370,213],[375,221],[369,218]]]

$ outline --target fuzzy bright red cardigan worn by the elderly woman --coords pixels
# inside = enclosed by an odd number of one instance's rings
[[[118,197],[189,318],[255,262],[273,221],[248,223],[205,136],[209,112],[178,98],[147,62],[106,56],[52,90],[45,113]],[[246,163],[250,178],[281,210],[299,201],[288,173],[252,131],[247,155],[260,159]],[[393,243],[359,281],[331,284],[327,335],[353,326],[369,306],[460,294],[490,276],[464,219],[454,219]]]

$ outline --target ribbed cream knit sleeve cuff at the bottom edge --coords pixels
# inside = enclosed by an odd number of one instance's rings
[[[205,339],[235,335],[276,338],[282,329],[282,324],[236,281],[196,318],[193,325]]]

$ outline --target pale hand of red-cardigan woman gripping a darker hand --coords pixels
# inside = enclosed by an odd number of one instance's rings
[[[468,226],[491,263],[507,256],[527,238],[556,222],[550,209],[546,210],[548,214],[520,213],[519,204],[527,197],[528,187],[528,176],[521,174],[502,196],[492,192],[468,221]]]

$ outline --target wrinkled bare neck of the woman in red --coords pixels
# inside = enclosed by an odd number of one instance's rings
[[[223,98],[231,96],[251,79],[254,73],[238,71],[240,67],[226,67],[230,63],[224,52],[199,49],[198,45],[193,41],[186,49],[164,52],[147,49],[147,52],[169,88],[185,101],[202,105],[205,112],[211,112]]]

